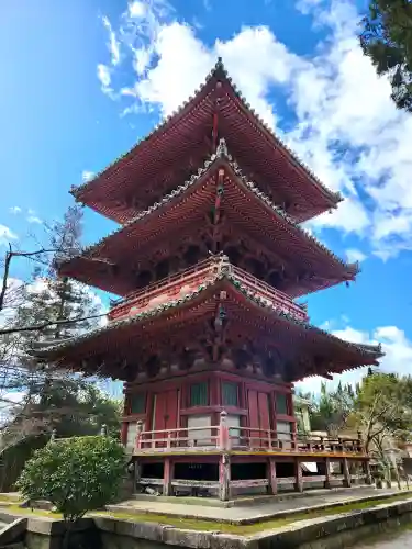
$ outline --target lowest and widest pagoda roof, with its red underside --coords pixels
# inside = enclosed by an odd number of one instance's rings
[[[210,325],[216,318],[219,303],[224,306],[229,333],[240,329],[259,346],[266,340],[274,349],[281,347],[288,356],[288,381],[377,366],[383,356],[380,345],[348,343],[285,313],[242,285],[230,269],[221,269],[213,279],[180,299],[71,339],[42,343],[32,354],[63,368],[125,379],[122,369],[129,360],[136,365],[136,357],[138,362],[143,360],[145,345],[153,352],[166,340],[170,349],[170,341],[179,335],[186,346],[190,345],[194,334],[204,330],[204,322]]]

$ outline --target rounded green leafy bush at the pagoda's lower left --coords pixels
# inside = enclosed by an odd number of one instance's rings
[[[47,500],[75,523],[115,498],[124,468],[124,450],[115,440],[74,437],[37,450],[16,484],[29,500]]]

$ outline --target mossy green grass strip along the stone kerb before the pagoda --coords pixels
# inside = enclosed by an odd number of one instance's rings
[[[387,497],[385,500],[369,500],[368,502],[356,503],[350,502],[342,505],[337,505],[336,507],[327,508],[327,509],[319,509],[319,511],[309,511],[307,513],[299,513],[285,518],[272,518],[268,520],[260,520],[255,524],[246,524],[246,525],[235,525],[229,523],[220,523],[216,520],[202,520],[196,518],[179,518],[170,515],[162,515],[157,513],[133,513],[133,512],[96,512],[92,515],[101,516],[101,517],[113,517],[119,518],[120,520],[132,520],[134,523],[155,523],[155,524],[164,524],[168,526],[174,526],[175,528],[182,528],[189,530],[202,530],[202,531],[221,531],[224,534],[237,534],[240,536],[248,536],[253,534],[257,534],[264,530],[272,530],[282,528],[293,523],[299,523],[300,520],[308,520],[311,518],[320,518],[324,516],[338,515],[341,513],[349,513],[352,511],[361,511],[375,507],[376,505],[389,504],[396,502],[402,502],[405,500],[411,500],[412,493],[403,493],[393,495],[391,497]],[[1,503],[0,503],[1,506]],[[53,513],[51,511],[42,511],[42,509],[31,509],[31,508],[21,508],[18,505],[11,505],[4,508],[5,512],[15,514],[15,515],[31,515],[31,516],[40,516],[47,518],[62,519],[63,516],[60,513]],[[88,515],[86,515],[88,516]]]

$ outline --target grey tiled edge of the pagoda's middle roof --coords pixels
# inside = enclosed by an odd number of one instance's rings
[[[120,228],[116,228],[113,231],[111,234],[107,235],[103,237],[101,240],[99,240],[97,244],[91,245],[85,250],[79,254],[78,256],[75,257],[93,257],[96,254],[99,253],[99,248],[104,245],[105,242],[108,242],[113,235],[122,233],[123,231],[127,229],[130,226],[134,225],[135,223],[138,223],[143,219],[147,217],[151,214],[154,214],[156,211],[159,209],[164,208],[167,205],[169,202],[172,200],[176,200],[179,198],[181,194],[183,194],[190,187],[194,186],[199,179],[201,179],[209,169],[215,164],[221,160],[226,160],[235,176],[242,181],[242,183],[249,190],[252,191],[261,202],[266,204],[266,206],[270,208],[272,212],[286,220],[297,232],[302,234],[305,239],[308,239],[312,245],[318,247],[319,249],[322,250],[322,253],[326,254],[336,265],[338,265],[341,268],[343,268],[348,277],[355,277],[359,272],[359,265],[356,264],[346,264],[338,256],[336,256],[333,251],[331,251],[326,246],[324,246],[318,238],[315,238],[313,235],[311,235],[308,231],[305,231],[303,227],[301,227],[297,222],[293,221],[293,219],[287,214],[280,206],[276,205],[274,202],[270,201],[270,199],[261,192],[258,187],[249,181],[242,172],[242,169],[237,165],[236,161],[233,160],[232,156],[229,154],[225,144],[222,144],[224,139],[221,141],[220,146],[218,147],[216,154],[211,155],[209,159],[207,159],[203,164],[203,167],[198,169],[197,173],[193,173],[191,178],[187,181],[185,181],[182,184],[180,184],[177,189],[171,191],[170,193],[166,194],[160,201],[155,202],[151,208],[147,210],[140,212],[135,217],[130,220],[125,225],[123,225]],[[69,260],[70,261],[70,260]],[[68,262],[69,262],[68,261]]]

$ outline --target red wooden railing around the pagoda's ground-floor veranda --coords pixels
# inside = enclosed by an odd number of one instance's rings
[[[134,453],[181,452],[202,450],[266,450],[286,453],[350,453],[365,455],[360,439],[307,437],[294,434],[259,429],[255,427],[230,427],[226,413],[221,413],[220,425],[180,427],[176,429],[145,430],[137,422]],[[199,436],[197,436],[199,434]]]

